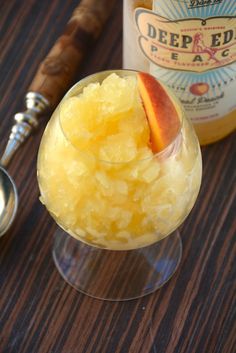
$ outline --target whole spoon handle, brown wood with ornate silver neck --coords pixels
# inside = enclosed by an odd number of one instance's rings
[[[25,97],[26,110],[14,116],[15,124],[0,160],[6,167],[14,153],[38,126],[38,117],[55,108],[71,86],[81,61],[100,35],[115,0],[82,0],[65,31],[38,71]]]

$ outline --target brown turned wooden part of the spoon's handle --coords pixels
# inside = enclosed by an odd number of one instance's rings
[[[54,108],[75,78],[91,43],[100,35],[115,0],[82,0],[29,87]]]

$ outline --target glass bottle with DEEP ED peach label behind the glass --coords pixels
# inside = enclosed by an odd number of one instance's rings
[[[179,97],[201,145],[236,128],[236,0],[124,0],[123,66]]]

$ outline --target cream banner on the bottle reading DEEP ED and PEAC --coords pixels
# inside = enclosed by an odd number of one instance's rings
[[[173,21],[138,8],[135,21],[142,52],[158,66],[204,72],[236,61],[234,17]]]

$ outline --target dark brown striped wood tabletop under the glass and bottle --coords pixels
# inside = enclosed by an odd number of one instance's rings
[[[78,0],[0,1],[0,150],[38,64]],[[122,1],[78,73],[121,67]],[[157,292],[129,302],[89,298],[57,272],[56,226],[38,201],[36,157],[46,124],[15,156],[17,219],[0,239],[0,353],[234,353],[235,135],[202,149],[203,183],[181,227],[183,258]]]

